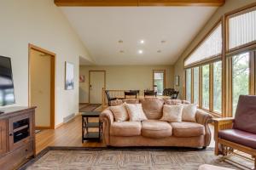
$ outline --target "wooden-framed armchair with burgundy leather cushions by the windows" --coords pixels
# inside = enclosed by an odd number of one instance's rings
[[[216,118],[213,122],[215,155],[240,150],[253,156],[256,169],[256,96],[241,95],[235,118]]]

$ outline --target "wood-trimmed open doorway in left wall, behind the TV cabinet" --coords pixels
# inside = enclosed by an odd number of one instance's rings
[[[55,54],[29,44],[28,105],[37,106],[36,129],[55,128]]]

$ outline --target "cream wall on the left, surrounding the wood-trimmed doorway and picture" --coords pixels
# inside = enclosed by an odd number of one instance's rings
[[[79,55],[90,57],[53,0],[0,0],[0,55],[11,57],[15,105],[28,105],[28,43],[56,54],[55,124],[79,111]],[[75,65],[74,90],[64,90],[64,65]]]

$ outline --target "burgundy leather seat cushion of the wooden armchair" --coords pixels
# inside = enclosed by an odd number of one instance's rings
[[[219,131],[218,137],[256,149],[256,134],[254,133],[247,133],[238,129],[226,129]]]

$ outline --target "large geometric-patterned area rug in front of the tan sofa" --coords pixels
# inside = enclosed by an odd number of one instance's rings
[[[237,161],[237,160],[236,160]],[[202,164],[220,167],[235,167],[214,156],[212,149],[108,149],[108,148],[56,148],[50,147],[37,156],[37,159],[27,163],[21,169],[53,170],[53,169],[161,169],[187,170],[198,169]],[[244,160],[241,163],[246,164]],[[248,162],[248,164],[250,164]],[[253,162],[251,162],[253,166]]]

